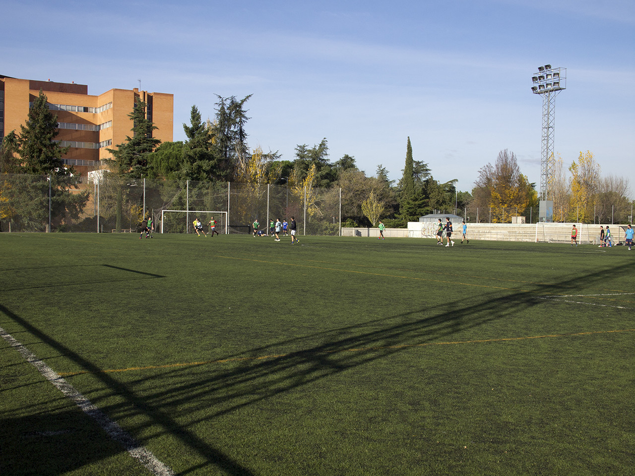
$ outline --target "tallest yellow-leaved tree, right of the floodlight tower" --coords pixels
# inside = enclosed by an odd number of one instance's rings
[[[587,222],[593,218],[595,195],[598,193],[600,166],[590,150],[580,152],[578,161],[569,167],[571,172],[571,202],[569,221]]]

